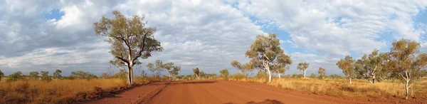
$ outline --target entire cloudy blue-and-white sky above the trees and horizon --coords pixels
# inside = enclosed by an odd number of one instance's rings
[[[181,74],[196,67],[205,73],[223,68],[236,73],[230,62],[249,60],[244,53],[256,35],[278,33],[293,60],[286,73],[302,73],[296,64],[307,61],[308,75],[320,66],[327,74],[342,74],[335,66],[339,58],[360,58],[375,48],[389,51],[399,38],[418,41],[424,50],[426,7],[425,0],[0,0],[0,69],[8,75],[57,68],[65,75],[100,75],[110,68],[112,56],[92,24],[119,10],[144,15],[157,28],[155,38],[164,51],[144,64],[159,59],[181,66]]]

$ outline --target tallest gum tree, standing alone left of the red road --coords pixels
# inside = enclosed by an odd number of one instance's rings
[[[154,39],[156,28],[146,27],[144,16],[126,17],[120,11],[112,11],[113,18],[102,16],[93,23],[97,36],[107,36],[110,53],[114,61],[127,66],[128,83],[133,84],[133,66],[139,64],[139,58],[145,59],[154,51],[163,51],[160,42]]]

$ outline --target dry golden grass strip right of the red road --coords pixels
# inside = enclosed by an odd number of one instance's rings
[[[263,78],[248,78],[242,81],[266,83],[267,79]],[[312,79],[312,78],[275,78],[268,85],[274,85],[280,88],[290,90],[307,91],[310,93],[326,94],[326,95],[346,95],[354,97],[369,97],[369,98],[404,98],[404,84],[399,81],[392,82],[386,80],[381,83],[371,84],[367,80],[353,80],[352,85],[348,84],[345,79]],[[411,97],[427,100],[427,80],[418,80],[416,85],[410,88]]]

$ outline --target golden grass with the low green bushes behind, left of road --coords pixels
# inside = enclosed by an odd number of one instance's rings
[[[1,71],[0,71],[1,72]],[[48,71],[41,71],[41,76],[31,72],[29,76],[20,71],[0,80],[0,103],[78,103],[93,100],[100,96],[90,94],[109,90],[129,88],[125,72],[116,73],[114,77],[98,78],[92,73],[75,71],[70,76],[60,76],[60,70],[52,76]],[[136,77],[135,83],[144,84],[167,78]],[[100,93],[102,94],[102,93]],[[83,95],[83,96],[82,96]]]

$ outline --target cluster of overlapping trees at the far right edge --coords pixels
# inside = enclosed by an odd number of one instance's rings
[[[417,80],[426,76],[427,53],[421,53],[420,43],[407,39],[393,41],[389,52],[372,51],[360,59],[345,56],[337,66],[352,84],[352,78],[364,78],[370,83],[381,82],[387,78],[401,80],[404,83],[406,99],[408,90]]]

